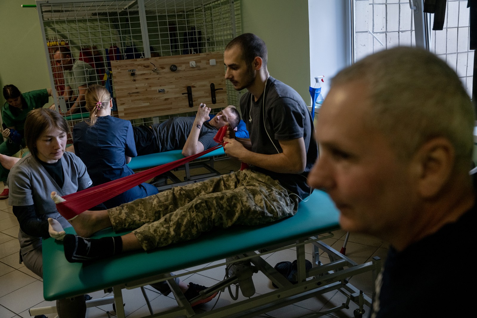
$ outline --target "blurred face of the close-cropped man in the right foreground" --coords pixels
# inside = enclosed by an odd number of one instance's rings
[[[366,125],[365,90],[352,82],[328,93],[316,126],[320,156],[308,182],[329,193],[342,229],[383,237],[411,216],[415,182],[387,138]]]

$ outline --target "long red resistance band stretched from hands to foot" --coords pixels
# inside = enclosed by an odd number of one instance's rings
[[[132,174],[130,176],[126,176],[120,179],[112,180],[88,189],[84,189],[72,194],[65,195],[62,197],[66,201],[56,204],[56,209],[58,212],[67,220],[73,219],[76,215],[83,213],[87,209],[91,209],[94,206],[103,203],[104,201],[114,198],[115,196],[123,193],[126,190],[134,188],[135,186],[152,179],[160,174],[163,174],[167,171],[170,171],[176,167],[179,167],[190,160],[196,159],[202,155],[205,155],[215,149],[223,147],[223,138],[225,136],[225,132],[227,130],[227,126],[221,127],[217,134],[214,137],[214,140],[219,145],[199,152],[195,155],[185,157],[182,159],[178,159],[173,162],[166,163],[161,166],[157,166],[155,168],[147,169],[144,171],[140,171],[138,173]]]

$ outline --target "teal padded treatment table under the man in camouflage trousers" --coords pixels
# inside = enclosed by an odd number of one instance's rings
[[[268,294],[259,297],[254,296],[247,300],[237,302],[237,304],[231,304],[230,306],[233,308],[229,309],[227,313],[223,313],[223,316],[220,316],[219,312],[218,316],[214,317],[239,317],[234,316],[232,313],[236,312],[237,315],[240,315],[239,313],[248,310],[257,310],[256,308],[261,308],[262,310],[267,306],[267,309],[273,308],[270,307],[271,305],[278,306],[277,308],[279,308],[289,304],[286,301],[287,299],[289,299],[289,301],[299,301],[296,300],[298,299],[296,295],[301,295],[305,291],[309,293],[305,295],[307,298],[315,295],[310,294],[311,292],[317,293],[321,291],[321,289],[317,288],[325,288],[322,289],[322,292],[329,291],[330,286],[332,286],[332,277],[337,279],[336,282],[333,282],[333,284],[337,284],[335,289],[351,288],[349,287],[351,285],[347,284],[347,282],[343,283],[344,278],[364,271],[373,270],[373,273],[376,270],[379,271],[377,267],[377,265],[380,267],[379,262],[377,264],[373,262],[373,264],[366,263],[358,265],[333,250],[337,255],[342,257],[341,259],[344,259],[345,262],[339,260],[340,263],[334,267],[327,264],[326,266],[314,267],[312,270],[305,272],[304,243],[318,241],[318,239],[314,237],[315,235],[317,236],[339,229],[338,215],[339,212],[330,197],[322,191],[314,190],[309,200],[300,203],[296,215],[287,219],[262,226],[233,226],[229,229],[217,229],[202,234],[198,239],[172,244],[151,252],[128,252],[90,264],[69,263],[64,257],[62,242],[52,238],[45,239],[43,241],[43,263],[45,264],[43,267],[43,296],[46,300],[55,300],[112,287],[114,290],[117,317],[124,317],[122,304],[123,301],[127,303],[127,299],[123,300],[121,289],[137,288],[156,281],[167,280],[176,296],[176,300],[178,299],[179,308],[176,309],[178,316],[172,315],[166,317],[183,317],[184,315],[191,317],[195,316],[195,313],[192,308],[190,308],[188,302],[185,301],[183,295],[180,295],[179,289],[172,286],[171,281],[173,282],[173,280],[170,279],[169,273],[240,255],[240,258],[250,259],[260,270],[262,270],[261,268],[265,268],[264,273],[280,287],[280,289],[277,289],[274,293],[281,293],[282,298],[280,298],[280,302],[277,302],[276,295],[267,296],[266,299],[261,298],[264,298]],[[68,228],[66,232],[74,233],[74,230],[73,228]],[[93,237],[121,234],[124,233],[115,234],[112,229],[109,228],[96,233]],[[289,248],[290,244],[294,244],[297,250],[299,269],[297,277],[301,283],[296,285],[292,285],[288,280],[280,276],[280,274],[277,275],[277,272],[273,269],[275,264],[266,264],[260,257],[260,254],[256,252],[264,251],[266,254],[270,253],[270,250],[273,251],[273,248],[281,246]],[[323,245],[325,244],[323,243]],[[264,250],[265,248],[268,250]],[[325,248],[329,247],[325,245]],[[329,252],[327,253],[330,255]],[[315,254],[319,257],[319,253]],[[338,259],[336,256],[329,256],[329,258],[332,260]],[[314,261],[314,266],[316,264],[320,263],[316,260]],[[216,266],[217,265],[214,267]],[[343,270],[345,266],[349,266],[350,268]],[[197,269],[197,271],[207,268],[208,267],[200,268]],[[321,268],[324,270],[321,274],[313,272],[313,270]],[[330,275],[333,269],[336,270],[336,274]],[[348,272],[349,270],[354,271]],[[325,286],[324,283],[316,283],[310,279],[307,280],[306,278],[309,278],[310,275],[317,278],[321,277],[321,279],[323,275],[329,275],[327,277],[330,278],[326,279]],[[220,285],[219,283],[219,286],[214,285],[217,287],[215,290],[225,288],[226,285],[224,284],[225,283]],[[303,284],[306,285],[306,288],[303,288]],[[352,288],[350,293],[355,295],[356,298],[356,293],[358,292],[358,289]],[[259,304],[255,304],[258,300],[260,300]],[[371,302],[368,298],[364,300],[362,303],[367,305]],[[223,310],[223,308],[218,308],[217,310],[220,311]],[[204,313],[204,315],[206,314],[207,313]],[[200,317],[202,317],[202,314]]]

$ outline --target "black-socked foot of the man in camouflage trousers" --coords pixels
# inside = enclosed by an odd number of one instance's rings
[[[64,256],[70,263],[85,263],[121,253],[123,240],[120,236],[85,239],[81,236],[66,234],[63,247]]]

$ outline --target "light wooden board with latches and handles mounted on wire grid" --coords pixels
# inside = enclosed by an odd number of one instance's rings
[[[210,65],[210,60],[215,60],[215,65]],[[195,67],[190,66],[191,61]],[[172,71],[171,65],[176,65],[177,70]],[[201,102],[211,108],[227,106],[223,53],[117,60],[111,61],[111,67],[119,118],[180,114],[194,111]],[[217,89],[215,104],[211,99],[211,83]],[[187,86],[192,91],[192,108],[187,99]]]

